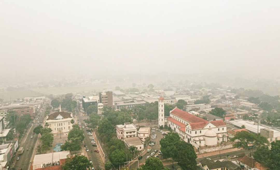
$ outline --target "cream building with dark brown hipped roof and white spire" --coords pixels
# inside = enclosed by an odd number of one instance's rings
[[[73,120],[73,114],[59,111],[52,113],[46,116],[46,123],[48,127],[52,129],[52,133],[56,134],[57,132],[68,133],[73,127],[71,120]]]

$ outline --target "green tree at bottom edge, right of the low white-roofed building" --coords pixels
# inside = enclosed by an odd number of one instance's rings
[[[76,155],[74,158],[67,158],[64,165],[62,165],[63,170],[87,170],[91,166],[91,163],[87,157],[83,155]]]

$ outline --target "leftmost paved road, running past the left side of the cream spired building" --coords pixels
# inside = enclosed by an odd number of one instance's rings
[[[46,105],[46,103],[47,103],[47,101],[45,102],[44,106]],[[43,109],[42,113],[40,113],[38,121],[43,121],[43,119],[45,118],[44,117],[45,109],[46,109],[46,106]],[[37,127],[38,125],[42,125],[42,123],[38,124],[36,121],[36,123],[33,124],[31,130],[29,131],[29,134],[27,135],[27,137],[25,135],[25,137],[22,139],[22,142],[20,143],[19,147],[23,147],[24,152],[22,153],[22,155],[19,156],[20,160],[16,160],[16,158],[18,156],[18,153],[16,153],[16,156],[15,156],[16,162],[14,164],[14,167],[16,169],[19,169],[19,168],[22,168],[24,170],[28,169],[30,161],[31,161],[32,153],[35,149],[35,144],[36,144],[36,141],[38,138],[38,134],[32,134],[32,133],[33,133],[33,129],[35,127]],[[31,136],[33,136],[33,138],[31,138]],[[27,151],[27,148],[28,148],[28,151]]]

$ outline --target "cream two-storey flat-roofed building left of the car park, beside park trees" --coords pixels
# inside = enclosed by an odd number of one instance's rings
[[[131,123],[124,123],[124,125],[116,125],[116,133],[118,139],[125,139],[137,136],[137,127]]]

